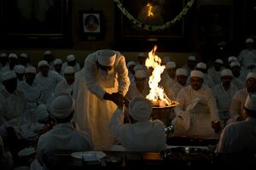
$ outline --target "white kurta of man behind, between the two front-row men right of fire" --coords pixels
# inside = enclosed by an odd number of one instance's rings
[[[230,88],[226,91],[223,88],[222,83],[220,83],[213,88],[212,91],[217,102],[219,119],[225,122],[228,118],[230,118],[230,105],[232,97],[236,94],[238,88],[231,83]]]

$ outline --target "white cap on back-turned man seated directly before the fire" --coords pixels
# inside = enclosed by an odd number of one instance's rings
[[[129,104],[129,114],[136,121],[144,122],[148,121],[152,111],[152,103],[150,100],[138,96],[131,99]]]

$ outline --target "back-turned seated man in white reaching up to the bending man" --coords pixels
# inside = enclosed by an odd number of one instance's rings
[[[109,122],[111,133],[128,151],[160,151],[166,148],[163,122],[150,121],[152,103],[136,97],[129,104],[131,123],[124,124],[123,105],[120,104]]]

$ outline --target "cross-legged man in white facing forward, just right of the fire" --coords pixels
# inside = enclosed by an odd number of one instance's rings
[[[203,86],[205,74],[191,71],[190,85],[177,94],[179,105],[175,107],[176,117],[173,136],[214,139],[220,129],[218,109],[212,90]]]

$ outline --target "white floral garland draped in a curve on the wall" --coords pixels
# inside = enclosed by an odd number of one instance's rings
[[[165,30],[166,28],[169,28],[170,26],[173,26],[174,24],[177,23],[178,20],[181,20],[183,18],[183,16],[185,14],[187,14],[187,12],[189,11],[189,8],[191,8],[191,6],[193,5],[193,3],[195,2],[195,0],[189,0],[189,2],[184,6],[183,10],[177,14],[177,16],[170,21],[167,21],[165,24],[161,25],[161,26],[153,26],[153,25],[147,25],[144,24],[143,22],[136,20],[126,9],[125,7],[123,7],[123,4],[120,3],[119,0],[113,0],[115,3],[117,3],[118,8],[120,9],[120,11],[125,14],[125,17],[131,21],[132,24],[134,24],[135,26],[139,27],[139,28],[143,28],[143,30],[147,30],[147,31],[159,31],[159,30]]]

